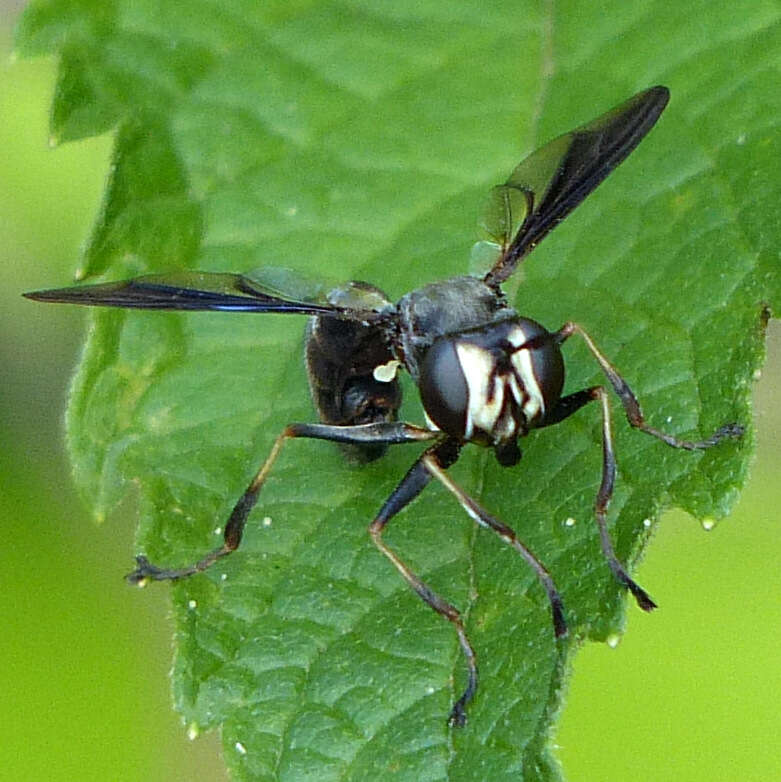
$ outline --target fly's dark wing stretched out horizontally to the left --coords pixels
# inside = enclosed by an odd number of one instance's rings
[[[330,304],[327,291],[311,297],[287,295],[277,285],[267,285],[250,275],[217,272],[150,274],[121,282],[25,293],[35,301],[123,307],[144,310],[214,310],[227,312],[293,312],[326,315],[348,320],[375,321],[378,309]]]

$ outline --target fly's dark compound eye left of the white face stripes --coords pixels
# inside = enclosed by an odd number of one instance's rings
[[[455,340],[440,337],[428,349],[420,367],[420,398],[428,417],[454,437],[466,432],[469,387],[458,360]]]

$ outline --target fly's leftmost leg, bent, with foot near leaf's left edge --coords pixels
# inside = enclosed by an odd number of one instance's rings
[[[277,460],[282,446],[296,437],[306,437],[316,440],[330,440],[337,443],[353,445],[411,443],[431,440],[437,435],[428,429],[422,429],[412,424],[401,422],[382,422],[364,424],[362,426],[329,426],[327,424],[289,424],[274,441],[269,455],[261,465],[249,486],[233,507],[230,518],[225,525],[223,543],[210,551],[205,557],[192,565],[182,568],[161,568],[153,565],[145,556],[136,557],[136,569],[127,575],[131,584],[143,585],[147,581],[175,581],[180,578],[201,573],[211,567],[218,559],[235,551],[244,533],[244,526],[250,511],[258,501],[258,495],[266,482],[274,462]]]

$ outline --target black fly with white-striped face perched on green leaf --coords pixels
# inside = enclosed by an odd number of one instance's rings
[[[638,605],[652,610],[654,601],[618,560],[608,534],[607,509],[616,459],[607,389],[598,385],[562,396],[562,344],[574,335],[584,340],[623,405],[629,424],[673,448],[710,448],[725,438],[739,437],[743,427],[728,424],[706,439],[688,441],[649,426],[630,387],[577,323],[569,321],[556,331],[548,331],[515,312],[501,285],[548,232],[639,144],[668,99],[665,87],[652,87],[524,159],[504,184],[491,191],[485,227],[498,246],[498,254],[482,278],[462,276],[424,285],[396,304],[379,288],[363,282],[302,295],[284,292],[262,274],[194,271],[25,294],[37,301],[92,306],[310,316],[305,356],[320,423],[285,427],[236,503],[219,548],[181,568],[158,567],[138,556],[129,580],[184,578],[235,551],[250,511],[288,440],[329,440],[364,462],[378,458],[390,445],[426,443],[372,520],[369,534],[407,584],[457,633],[466,661],[467,684],[449,721],[463,725],[467,704],[477,690],[478,669],[461,615],[386,544],[383,531],[432,479],[440,481],[477,524],[495,532],[532,568],[550,601],[554,633],[565,635],[562,599],[543,563],[513,529],[454,483],[447,470],[468,443],[493,449],[499,464],[511,467],[521,458],[518,440],[530,430],[558,424],[587,403],[598,402],[603,460],[594,513],[602,551],[616,579]],[[418,388],[425,427],[397,420],[400,368],[411,375]]]

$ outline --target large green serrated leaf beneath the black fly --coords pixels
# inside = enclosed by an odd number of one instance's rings
[[[779,302],[780,31],[771,2],[736,19],[704,2],[592,16],[572,0],[41,0],[18,48],[61,57],[53,138],[117,128],[79,276],[274,265],[368,279],[392,298],[466,270],[484,195],[524,154],[667,84],[659,126],[525,262],[516,303],[550,328],[581,323],[652,425],[704,436],[750,422]],[[78,485],[101,518],[130,491],[139,550],[190,563],[218,544],[281,428],[313,418],[303,323],[92,323],[68,413]],[[568,390],[601,382],[582,345],[566,354]],[[620,412],[611,532],[634,562],[662,508],[729,510],[752,438],[678,452]],[[238,779],[558,779],[548,742],[568,661],[624,622],[592,523],[599,441],[586,408],[530,436],[514,470],[476,447],[452,470],[548,565],[567,641],[523,562],[443,489],[388,528],[465,614],[482,681],[463,730],[445,722],[464,680],[452,628],[366,535],[417,449],[357,469],[331,444],[290,443],[240,551],[172,588],[187,724],[221,727]]]

